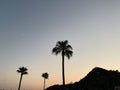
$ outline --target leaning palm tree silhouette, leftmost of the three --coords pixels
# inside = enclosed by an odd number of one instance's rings
[[[28,69],[26,67],[19,67],[19,69],[17,70],[17,72],[21,74],[20,75],[20,81],[19,81],[18,90],[20,90],[23,75],[28,74],[27,70]]]

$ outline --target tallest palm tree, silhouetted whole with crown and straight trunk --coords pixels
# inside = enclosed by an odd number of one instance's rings
[[[66,56],[68,59],[73,55],[72,47],[68,44],[68,40],[58,41],[56,46],[52,49],[52,53],[55,55],[62,55],[62,79],[63,85],[65,85],[65,73],[64,73],[64,57]]]

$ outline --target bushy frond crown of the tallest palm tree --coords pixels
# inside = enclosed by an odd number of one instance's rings
[[[72,51],[72,47],[71,45],[68,44],[68,41],[58,41],[56,43],[56,46],[52,49],[52,53],[58,55],[59,53],[61,53],[61,55],[66,56],[68,59],[70,59],[70,57],[73,54]]]

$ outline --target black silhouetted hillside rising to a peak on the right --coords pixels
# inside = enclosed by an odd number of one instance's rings
[[[120,86],[120,72],[99,67],[90,71],[83,79],[65,85],[66,90],[114,90]],[[62,85],[54,85],[46,90],[61,90]]]

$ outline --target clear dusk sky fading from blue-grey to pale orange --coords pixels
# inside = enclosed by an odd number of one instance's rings
[[[73,56],[65,58],[66,83],[94,67],[120,70],[120,0],[0,0],[0,89],[42,90],[62,84],[57,41],[68,40]]]

